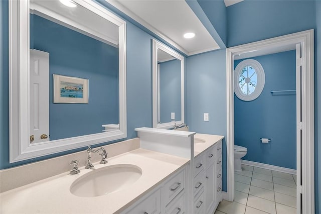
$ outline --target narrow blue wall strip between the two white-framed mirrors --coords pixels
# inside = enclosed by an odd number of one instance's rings
[[[137,137],[135,128],[152,127],[151,39],[127,22],[127,139]]]

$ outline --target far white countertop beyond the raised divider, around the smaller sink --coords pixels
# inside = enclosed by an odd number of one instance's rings
[[[204,140],[205,142],[194,144],[194,157],[204,152],[206,149],[210,148],[212,145],[216,144],[217,142],[221,141],[223,138],[224,136],[221,136],[221,135],[207,135],[207,134],[196,133],[196,135],[194,135],[194,140],[201,139],[201,140]]]

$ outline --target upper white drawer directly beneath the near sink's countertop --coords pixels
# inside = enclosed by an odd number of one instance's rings
[[[168,204],[175,198],[176,195],[184,189],[185,185],[185,169],[174,175],[174,177],[170,178],[168,182],[164,185],[164,192],[162,192],[163,199]]]

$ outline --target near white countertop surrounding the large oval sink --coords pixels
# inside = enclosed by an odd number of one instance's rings
[[[201,135],[199,138],[205,137]],[[108,163],[104,165],[94,163],[95,169],[115,164],[133,164],[142,169],[142,175],[127,189],[97,197],[78,197],[69,191],[71,184],[93,170],[82,167],[77,175],[67,172],[1,193],[0,212],[119,213],[190,161],[145,149],[132,150],[107,160]]]

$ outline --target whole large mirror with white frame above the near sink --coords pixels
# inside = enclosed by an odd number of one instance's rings
[[[9,1],[10,162],[126,138],[126,22],[93,1]]]

